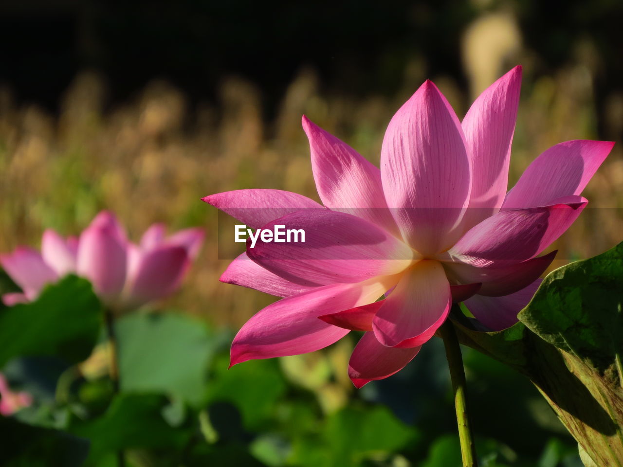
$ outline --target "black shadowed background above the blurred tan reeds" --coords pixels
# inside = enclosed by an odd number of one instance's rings
[[[269,113],[302,65],[325,87],[365,94],[396,90],[407,59],[426,57],[428,74],[464,84],[460,37],[483,10],[515,13],[535,73],[570,59],[574,40],[599,52],[597,106],[621,87],[623,2],[538,1],[4,1],[0,4],[0,82],[19,101],[55,110],[79,70],[107,78],[109,102],[124,101],[154,77],[191,102],[213,100],[235,73],[257,83]],[[599,112],[597,112],[599,114]]]

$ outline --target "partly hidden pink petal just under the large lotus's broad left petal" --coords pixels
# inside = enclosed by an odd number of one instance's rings
[[[278,297],[296,295],[315,288],[315,286],[298,285],[273,274],[250,260],[246,252],[229,264],[219,280]]]

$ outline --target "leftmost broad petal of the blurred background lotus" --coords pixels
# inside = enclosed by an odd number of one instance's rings
[[[32,248],[17,247],[13,253],[0,255],[0,264],[11,279],[22,288],[29,300],[39,295],[47,283],[58,280],[59,276],[47,264],[40,253]]]

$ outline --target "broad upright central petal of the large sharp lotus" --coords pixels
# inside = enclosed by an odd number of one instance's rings
[[[469,200],[470,161],[459,120],[432,82],[389,122],[381,179],[387,204],[412,247],[430,255],[454,245]]]

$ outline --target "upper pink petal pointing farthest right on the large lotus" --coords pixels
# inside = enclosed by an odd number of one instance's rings
[[[581,194],[612,146],[611,141],[583,139],[552,146],[523,172],[506,195],[503,209],[542,206]]]

